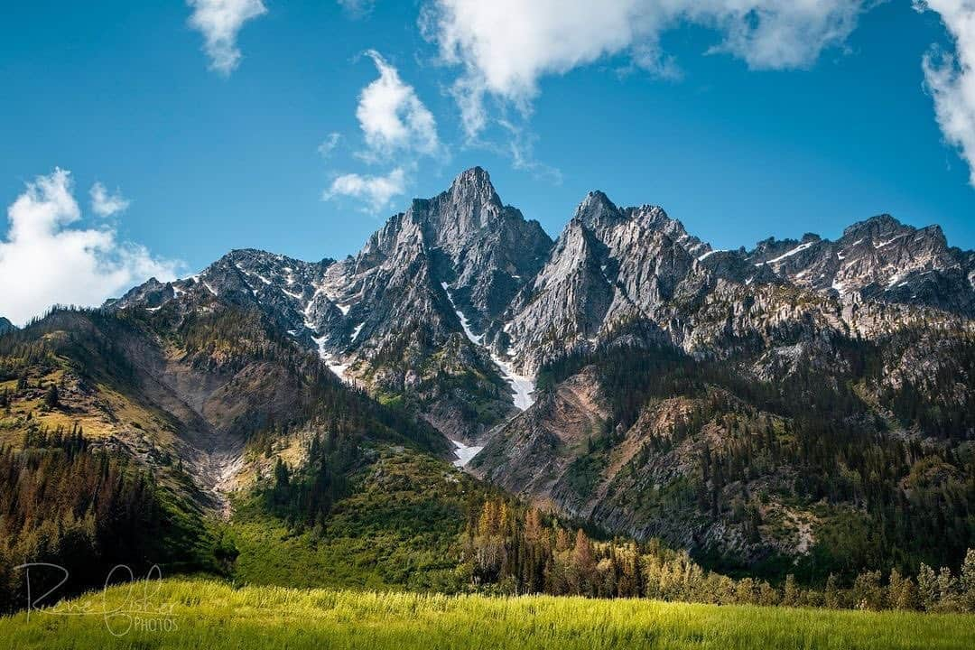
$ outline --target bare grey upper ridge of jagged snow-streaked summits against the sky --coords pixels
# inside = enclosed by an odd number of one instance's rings
[[[975,253],[949,248],[937,226],[916,229],[887,214],[851,225],[836,242],[806,233],[716,250],[663,208],[619,207],[599,190],[553,242],[474,167],[390,216],[355,255],[305,262],[235,249],[196,276],[153,279],[106,306],[151,313],[174,303],[189,313],[218,300],[258,309],[343,378],[421,395],[438,426],[458,430],[485,400],[510,407],[512,372],[531,376],[565,354],[621,339],[711,354],[729,331],[758,335],[750,327],[759,325],[741,322],[706,331],[697,311],[723,300],[732,313],[753,298],[770,306],[767,287],[970,317]],[[795,306],[778,308],[781,320]],[[466,393],[433,388],[445,376],[478,379]]]

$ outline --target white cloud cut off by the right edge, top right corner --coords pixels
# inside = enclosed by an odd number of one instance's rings
[[[975,1],[927,0],[915,8],[940,14],[955,41],[955,55],[933,49],[924,56],[924,81],[941,133],[968,163],[975,186]]]

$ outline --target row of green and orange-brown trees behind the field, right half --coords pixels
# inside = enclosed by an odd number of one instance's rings
[[[708,571],[656,540],[594,540],[558,517],[501,498],[472,511],[462,545],[461,571],[471,584],[499,593],[975,612],[975,549],[954,571],[921,564],[917,576],[893,569],[863,571],[851,580],[833,574],[818,588],[800,586],[794,575],[772,584]]]

